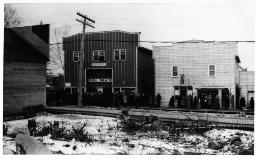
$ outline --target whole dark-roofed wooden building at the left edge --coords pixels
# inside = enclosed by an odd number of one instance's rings
[[[3,114],[46,105],[50,25],[4,28]]]

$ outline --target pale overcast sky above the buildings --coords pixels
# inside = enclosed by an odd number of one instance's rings
[[[254,41],[254,4],[237,2],[240,3],[21,3],[12,4],[12,7],[24,19],[22,26],[38,25],[42,20],[43,24],[50,24],[52,30],[66,23],[71,26],[73,34],[82,32],[81,23],[75,20],[81,18],[76,15],[78,11],[95,19],[95,29],[88,27],[85,32],[141,32],[141,41],[186,41],[192,38],[205,41]],[[152,45],[166,46],[171,43],[140,45],[152,49]],[[238,55],[240,65],[254,71],[254,43],[239,43]]]

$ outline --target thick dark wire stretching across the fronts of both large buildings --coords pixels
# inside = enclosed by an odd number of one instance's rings
[[[50,45],[56,45],[56,44],[64,44],[64,43],[70,43],[70,42],[76,42],[81,40],[75,40],[75,41],[67,41],[67,42],[61,42],[61,43],[55,43]],[[255,41],[121,41],[121,40],[92,40],[92,39],[85,39],[85,41],[107,41],[107,42],[148,42],[148,43],[228,43],[228,42],[255,42]]]

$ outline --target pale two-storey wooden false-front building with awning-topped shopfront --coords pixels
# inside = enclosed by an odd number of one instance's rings
[[[197,99],[204,94],[212,97],[218,94],[220,108],[223,108],[223,99],[228,94],[230,108],[238,107],[240,60],[237,43],[191,40],[172,46],[154,46],[153,59],[155,92],[162,97],[160,106],[167,107],[172,95],[177,106],[180,94],[191,94]]]

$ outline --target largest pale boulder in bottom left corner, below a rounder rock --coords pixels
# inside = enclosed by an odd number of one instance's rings
[[[33,136],[17,134],[15,138],[17,154],[52,154],[52,152]]]

